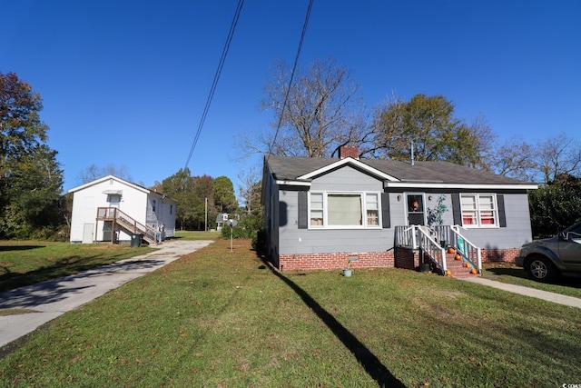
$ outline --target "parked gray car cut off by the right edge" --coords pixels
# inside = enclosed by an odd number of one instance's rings
[[[523,244],[515,262],[539,282],[555,279],[557,274],[581,273],[581,222],[555,237]]]

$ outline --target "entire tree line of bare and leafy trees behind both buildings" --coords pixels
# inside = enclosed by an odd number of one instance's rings
[[[238,139],[244,153],[333,157],[342,145],[356,145],[362,159],[448,161],[539,184],[529,194],[536,236],[555,234],[581,219],[581,146],[571,136],[556,132],[536,143],[515,138],[498,144],[485,117],[457,117],[444,95],[419,94],[409,100],[391,95],[367,108],[349,69],[332,58],[299,68],[288,88],[290,76],[283,63],[272,67],[261,100],[273,114],[272,126]],[[46,144],[42,108],[40,95],[28,83],[14,73],[0,73],[3,239],[68,236],[71,200],[62,193],[58,153]],[[106,174],[131,180],[125,167],[112,165],[89,166],[80,177],[88,182]],[[248,218],[248,228],[259,228],[260,177],[250,171],[241,180],[243,209],[225,176],[192,177],[185,168],[152,189],[178,201],[178,229],[212,228],[221,212],[241,214]]]

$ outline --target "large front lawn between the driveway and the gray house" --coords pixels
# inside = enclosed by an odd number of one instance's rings
[[[8,345],[0,385],[545,387],[581,376],[578,309],[399,269],[279,274],[236,243]]]

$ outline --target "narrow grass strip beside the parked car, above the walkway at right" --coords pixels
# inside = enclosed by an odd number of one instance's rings
[[[581,298],[580,277],[561,276],[551,283],[540,283],[531,279],[522,267],[514,263],[488,263],[483,267],[483,277],[490,280]]]

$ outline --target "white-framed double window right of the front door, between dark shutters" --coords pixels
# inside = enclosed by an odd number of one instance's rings
[[[460,194],[462,226],[498,226],[496,194]]]

